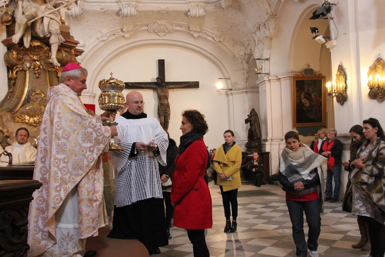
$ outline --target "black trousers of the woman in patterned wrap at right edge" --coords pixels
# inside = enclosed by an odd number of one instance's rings
[[[383,257],[385,253],[385,225],[377,222],[374,218],[360,216],[368,224],[371,251],[370,255],[373,257]]]

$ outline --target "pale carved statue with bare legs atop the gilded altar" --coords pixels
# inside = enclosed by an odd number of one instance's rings
[[[23,36],[24,46],[29,48],[31,36],[49,36],[51,45],[50,63],[60,66],[56,60],[59,45],[64,42],[61,35],[60,9],[73,7],[75,0],[17,0],[15,9],[16,33],[12,42],[17,44]]]

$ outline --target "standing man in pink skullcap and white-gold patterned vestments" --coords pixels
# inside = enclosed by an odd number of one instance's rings
[[[101,154],[118,133],[102,124],[110,112],[89,115],[78,98],[87,75],[69,63],[60,84],[48,88],[33,172],[43,185],[29,206],[28,256],[83,256],[87,237],[108,224]]]

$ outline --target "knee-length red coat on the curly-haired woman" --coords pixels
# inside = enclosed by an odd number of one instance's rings
[[[206,145],[203,140],[197,140],[175,159],[171,202],[176,204],[173,216],[176,227],[206,229],[213,226],[211,195],[203,179],[207,158]]]

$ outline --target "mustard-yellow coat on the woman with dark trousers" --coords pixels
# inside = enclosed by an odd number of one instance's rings
[[[234,190],[242,186],[241,183],[241,173],[239,169],[241,168],[242,162],[242,150],[235,144],[233,147],[225,154],[223,150],[223,145],[219,146],[214,157],[214,169],[217,172],[217,183],[219,186],[223,187],[223,191]],[[232,180],[223,180],[220,178],[220,174],[224,173],[226,177],[231,176]]]

